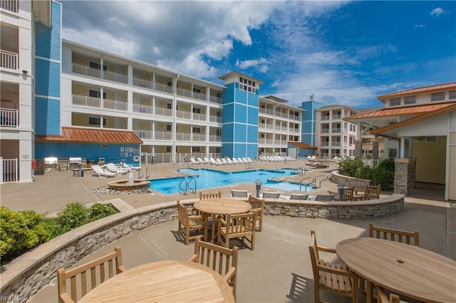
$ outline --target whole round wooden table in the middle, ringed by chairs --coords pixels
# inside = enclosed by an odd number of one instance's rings
[[[238,213],[247,213],[250,211],[252,206],[244,201],[239,201],[231,198],[211,198],[199,200],[193,204],[193,207],[197,211],[201,211],[204,214],[204,235],[207,235],[207,223],[209,216],[212,216],[212,238],[211,242],[214,242],[215,238],[215,221],[217,216],[234,215]],[[207,240],[207,239],[205,239]]]

